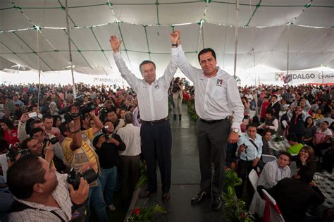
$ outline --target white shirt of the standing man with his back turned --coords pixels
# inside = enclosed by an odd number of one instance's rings
[[[125,143],[125,150],[119,151],[120,156],[137,156],[142,152],[140,147],[140,128],[128,123],[117,131],[120,139]]]

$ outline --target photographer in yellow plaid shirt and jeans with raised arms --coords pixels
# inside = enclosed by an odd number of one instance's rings
[[[94,111],[91,111],[89,116],[93,119],[95,128],[81,131],[80,113],[77,106],[70,107],[70,115],[73,121],[61,123],[59,127],[61,134],[65,137],[61,144],[65,159],[75,170],[90,162],[95,173],[99,173],[99,158],[92,148],[90,140],[93,139],[96,132],[103,128],[103,125],[99,118],[95,116]],[[89,215],[89,204],[92,200],[91,204],[96,213],[97,221],[108,221],[105,210],[106,204],[99,179],[89,185],[89,196],[86,204],[87,215]]]

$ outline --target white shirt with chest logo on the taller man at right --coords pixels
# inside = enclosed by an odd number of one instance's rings
[[[206,78],[202,69],[190,65],[182,46],[177,49],[180,70],[194,82],[197,115],[206,121],[224,119],[233,115],[232,128],[240,129],[244,117],[244,105],[235,79],[218,67],[215,76]]]

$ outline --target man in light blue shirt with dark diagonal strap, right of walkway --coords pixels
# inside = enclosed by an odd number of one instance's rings
[[[237,175],[242,179],[242,185],[235,187],[235,193],[240,198],[247,175],[253,168],[256,169],[262,155],[262,139],[259,134],[256,134],[255,125],[252,123],[247,125],[247,133],[237,140],[237,147],[237,152],[235,152],[235,155],[239,156]],[[248,197],[252,198],[253,187],[249,180],[247,181],[247,193]]]

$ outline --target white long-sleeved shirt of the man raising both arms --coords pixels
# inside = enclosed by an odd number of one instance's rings
[[[125,62],[119,52],[113,54],[120,75],[137,94],[140,118],[143,121],[158,121],[168,116],[169,83],[178,69],[178,54],[176,50],[176,48],[172,48],[171,62],[168,64],[163,76],[152,82],[151,85],[131,73],[128,67],[125,66]]]

